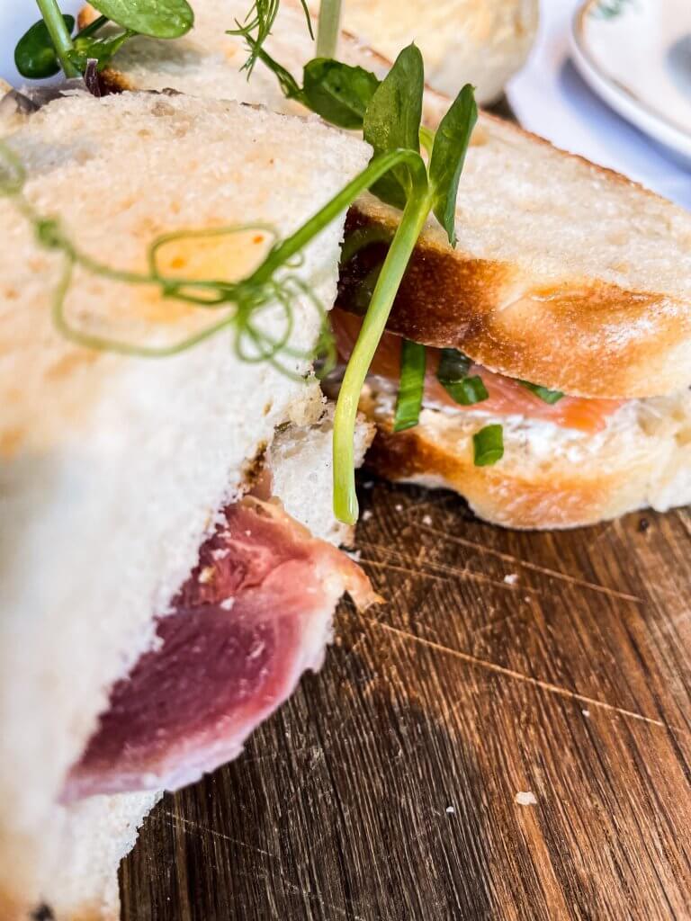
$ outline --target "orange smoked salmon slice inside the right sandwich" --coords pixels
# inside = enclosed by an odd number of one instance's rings
[[[350,357],[360,329],[360,318],[345,310],[334,309],[330,314],[339,355]],[[585,399],[564,396],[556,403],[541,400],[518,380],[505,378],[486,367],[471,365],[469,375],[477,375],[485,384],[488,398],[471,406],[454,402],[437,379],[439,349],[427,347],[427,375],[424,404],[426,406],[451,406],[461,411],[480,410],[491,415],[525,415],[531,419],[544,419],[563,428],[576,428],[582,432],[601,432],[610,415],[622,405],[621,400]],[[369,373],[380,378],[398,381],[401,374],[401,338],[384,332],[374,356]]]

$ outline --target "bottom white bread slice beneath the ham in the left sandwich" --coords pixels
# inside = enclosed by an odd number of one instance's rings
[[[332,406],[322,407],[322,417],[312,425],[287,426],[276,435],[269,462],[274,495],[287,512],[315,537],[338,544],[351,534],[334,519],[331,510],[333,415]],[[373,434],[373,426],[360,418],[356,429],[358,467]],[[93,797],[66,808],[53,808],[51,821],[59,828],[60,845],[53,866],[44,875],[41,899],[50,906],[55,921],[118,921],[118,864],[135,845],[138,827],[160,796],[134,793]]]

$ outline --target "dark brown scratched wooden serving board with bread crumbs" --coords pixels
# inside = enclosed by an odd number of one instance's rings
[[[387,603],[162,801],[126,921],[691,917],[689,513],[519,533],[360,485]]]

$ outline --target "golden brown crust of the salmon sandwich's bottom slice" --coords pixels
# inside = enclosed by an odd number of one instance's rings
[[[421,429],[395,435],[379,429],[367,464],[392,481],[452,489],[480,518],[524,530],[578,528],[615,518],[639,506],[638,479],[620,471],[582,472],[531,480],[499,463],[475,467],[467,456],[444,450]]]

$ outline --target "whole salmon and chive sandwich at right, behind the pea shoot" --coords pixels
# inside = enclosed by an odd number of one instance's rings
[[[105,79],[299,111],[260,63],[249,79],[241,71],[242,39],[219,22],[246,13],[239,0],[199,0],[179,43],[136,39]],[[313,54],[299,3],[282,2],[265,48],[299,78]],[[347,34],[339,57],[378,78],[389,67]],[[430,131],[448,103],[427,90]],[[349,210],[356,245],[332,315],[343,357],[399,221],[369,194]],[[691,216],[480,113],[455,229],[451,248],[429,221],[393,306],[360,404],[378,431],[368,463],[392,480],[456,490],[482,518],[514,528],[691,500]],[[404,348],[417,356],[419,405],[401,420]]]

